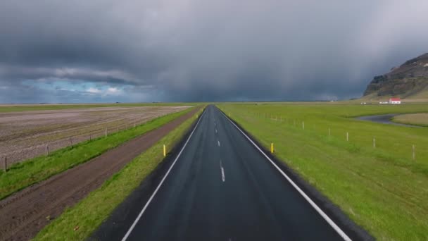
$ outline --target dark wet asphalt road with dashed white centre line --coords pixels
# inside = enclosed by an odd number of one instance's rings
[[[123,240],[343,240],[215,106],[152,197]]]

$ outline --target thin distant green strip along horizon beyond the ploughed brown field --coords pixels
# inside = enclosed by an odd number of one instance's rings
[[[16,111],[47,111],[63,109],[86,109],[95,107],[133,106],[195,106],[196,103],[109,103],[109,104],[0,104],[0,113]]]

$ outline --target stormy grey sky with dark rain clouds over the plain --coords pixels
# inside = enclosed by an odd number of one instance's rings
[[[428,1],[1,0],[0,103],[360,97],[428,52]]]

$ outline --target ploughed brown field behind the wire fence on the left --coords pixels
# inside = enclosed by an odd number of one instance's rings
[[[188,106],[99,107],[0,113],[0,157],[15,163],[125,130]]]

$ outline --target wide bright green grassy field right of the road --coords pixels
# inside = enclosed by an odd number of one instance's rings
[[[428,240],[428,128],[352,118],[427,104],[218,106],[378,240]]]

